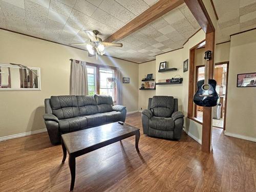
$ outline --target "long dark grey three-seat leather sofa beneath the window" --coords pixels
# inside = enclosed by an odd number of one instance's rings
[[[61,142],[60,135],[90,127],[125,121],[126,108],[114,105],[111,96],[51,96],[45,99],[43,116],[52,144]]]

